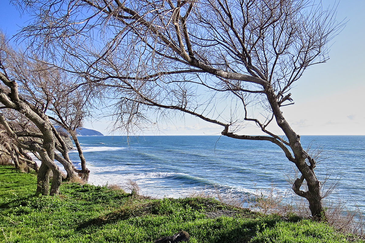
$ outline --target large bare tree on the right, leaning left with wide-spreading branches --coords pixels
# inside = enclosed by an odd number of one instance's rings
[[[293,191],[324,218],[316,161],[282,109],[303,72],[328,59],[342,27],[335,8],[315,0],[13,2],[35,16],[19,36],[84,85],[114,94],[123,125],[167,109],[220,125],[224,136],[273,142],[301,173]],[[247,124],[265,135],[242,135]]]

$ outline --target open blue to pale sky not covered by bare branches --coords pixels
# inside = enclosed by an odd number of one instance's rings
[[[323,5],[334,1],[323,0]],[[0,3],[0,28],[14,35],[25,25],[28,16],[21,17],[8,1]],[[347,20],[345,29],[335,37],[330,60],[312,66],[291,90],[295,105],[283,107],[284,116],[301,135],[365,135],[365,1],[341,1],[337,19]],[[87,121],[85,127],[108,134],[110,123],[105,119]],[[160,131],[145,135],[214,135],[221,132],[215,126],[197,118],[185,116],[160,124]],[[280,133],[279,131],[277,131]],[[118,135],[119,132],[114,132]],[[246,134],[257,134],[247,127]]]

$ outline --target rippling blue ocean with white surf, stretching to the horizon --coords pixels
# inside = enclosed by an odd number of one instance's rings
[[[272,185],[289,192],[287,176],[294,164],[268,141],[220,136],[103,136],[79,137],[89,183],[137,182],[144,195],[185,197],[194,193],[246,199],[265,193]],[[326,200],[342,198],[351,208],[365,211],[365,136],[302,136],[306,148],[323,150],[316,175],[326,185],[337,183]],[[70,158],[77,167],[76,150]]]

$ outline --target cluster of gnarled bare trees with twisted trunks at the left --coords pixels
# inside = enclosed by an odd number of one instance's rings
[[[81,170],[74,167],[68,156],[69,146],[65,142],[70,139],[62,136],[52,123],[53,121],[66,127],[81,125],[85,115],[82,105],[85,102],[77,93],[70,77],[61,70],[36,60],[36,57],[33,55],[29,58],[14,51],[0,33],[1,108],[13,110],[15,116],[24,118],[16,124],[22,129],[14,128],[3,114],[0,115],[0,123],[7,136],[14,141],[14,146],[11,147],[14,154],[27,158],[26,162],[29,164],[31,158],[24,152],[29,150],[42,161],[39,170],[37,168],[37,193],[55,195],[59,193],[61,172],[54,160],[64,166],[67,180],[78,181],[78,176],[84,181],[88,180],[90,171],[86,168],[85,159]],[[33,126],[32,129],[28,123]],[[74,140],[77,141],[77,138]],[[80,157],[84,158],[80,144],[78,145]],[[15,165],[19,164],[16,160],[22,156],[12,156]],[[53,182],[49,192],[50,171],[53,173]]]

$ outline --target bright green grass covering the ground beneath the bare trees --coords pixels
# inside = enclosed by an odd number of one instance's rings
[[[0,166],[0,242],[152,243],[185,230],[191,243],[364,242],[326,223],[283,221],[214,199],[145,199],[93,185],[62,184],[35,196],[35,175]]]

